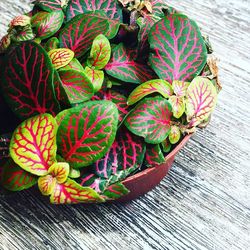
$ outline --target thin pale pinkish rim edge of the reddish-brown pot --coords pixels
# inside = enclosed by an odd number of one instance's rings
[[[165,157],[166,162],[168,161],[168,159],[171,159],[172,157],[174,157],[184,146],[185,144],[188,142],[188,140],[192,137],[192,135],[186,135],[182,141]],[[163,163],[164,164],[164,163]],[[159,167],[159,166],[156,166]],[[142,178],[145,175],[150,175],[151,172],[154,172],[156,167],[152,167],[152,168],[147,168],[135,175],[132,175],[130,177],[128,177],[127,179],[125,179],[124,181],[122,181],[122,183],[126,186],[127,183],[131,182],[131,181],[135,181],[137,179]]]

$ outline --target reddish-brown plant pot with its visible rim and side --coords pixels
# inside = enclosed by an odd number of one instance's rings
[[[164,164],[145,169],[124,180],[122,183],[130,190],[130,193],[115,200],[115,202],[127,202],[136,199],[157,186],[171,168],[176,154],[185,146],[190,137],[191,135],[187,135],[183,138],[174,150],[166,156]]]

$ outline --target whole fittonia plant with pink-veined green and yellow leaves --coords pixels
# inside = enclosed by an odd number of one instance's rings
[[[56,204],[127,194],[220,89],[208,39],[163,0],[37,0],[0,51],[2,186]]]

